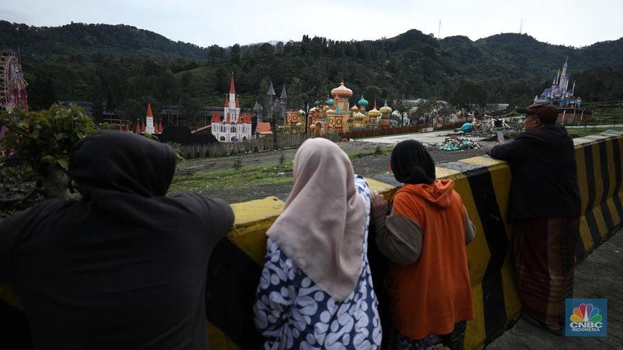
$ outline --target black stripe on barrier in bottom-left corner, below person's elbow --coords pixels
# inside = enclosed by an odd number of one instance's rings
[[[26,313],[1,299],[0,349],[33,349]]]

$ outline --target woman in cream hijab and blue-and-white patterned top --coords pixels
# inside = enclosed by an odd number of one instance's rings
[[[303,142],[293,167],[294,188],[267,232],[254,307],[264,349],[378,349],[368,184],[323,138]]]

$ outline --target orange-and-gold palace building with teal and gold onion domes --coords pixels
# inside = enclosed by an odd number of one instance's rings
[[[385,106],[377,109],[377,102],[370,111],[368,100],[361,98],[350,107],[352,90],[340,86],[331,91],[333,98],[325,103],[316,102],[316,107],[309,109],[308,123],[312,136],[324,135],[325,133],[341,133],[350,130],[374,130],[390,127],[390,115],[392,109]],[[284,131],[287,133],[303,133],[305,128],[305,111],[288,111],[284,121]]]

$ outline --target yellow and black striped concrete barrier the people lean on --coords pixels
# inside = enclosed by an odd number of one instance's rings
[[[582,201],[579,260],[621,226],[623,132],[576,138],[574,142]],[[468,246],[476,320],[467,324],[466,349],[482,348],[503,333],[521,311],[506,219],[511,176],[505,162],[487,156],[437,167],[438,178],[455,181],[455,190],[478,231]],[[368,182],[379,193],[390,195],[396,190],[389,176]],[[262,340],[253,325],[255,288],[266,251],[265,232],[283,206],[276,197],[232,205],[234,227],[228,239],[215,248],[208,270],[206,315],[212,349],[260,347]],[[10,286],[0,286],[0,348],[30,348],[26,316]]]

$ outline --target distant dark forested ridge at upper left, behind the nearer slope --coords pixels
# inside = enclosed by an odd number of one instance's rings
[[[25,53],[51,55],[141,55],[176,56],[206,59],[208,49],[195,44],[174,42],[149,30],[119,24],[72,23],[60,27],[35,27],[0,21],[3,48],[17,48]]]

